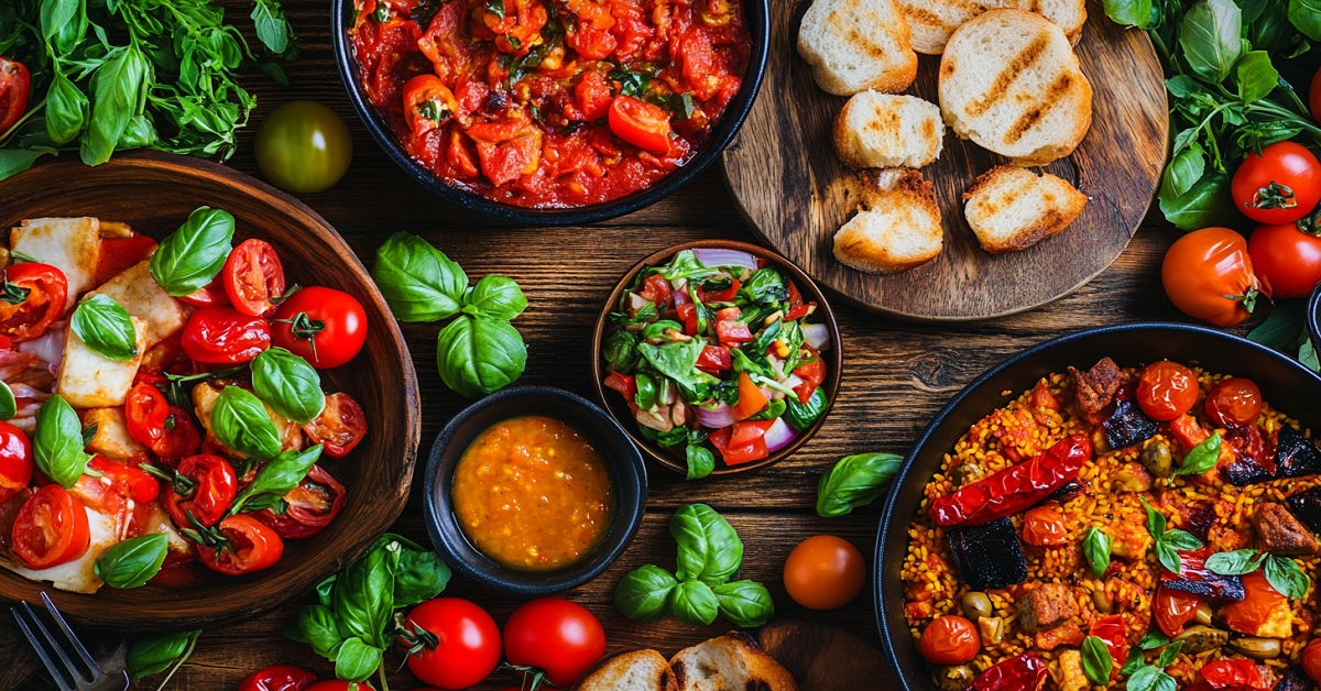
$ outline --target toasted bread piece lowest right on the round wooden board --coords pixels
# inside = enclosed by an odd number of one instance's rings
[[[1087,203],[1087,196],[1069,182],[1017,165],[982,173],[963,198],[968,226],[991,254],[1026,250],[1058,235]]]

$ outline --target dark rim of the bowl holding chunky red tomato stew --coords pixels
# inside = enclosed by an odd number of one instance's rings
[[[350,52],[349,32],[345,25],[345,15],[353,8],[351,0],[332,1],[330,33],[339,79],[343,82],[345,92],[349,95],[349,102],[358,114],[358,119],[362,120],[363,127],[371,133],[376,145],[386,152],[386,156],[421,186],[440,194],[452,203],[509,223],[522,226],[579,226],[608,221],[651,206],[674,194],[679,188],[687,185],[711,166],[711,164],[720,160],[725,147],[729,145],[734,135],[738,133],[738,129],[742,128],[748,114],[752,112],[752,107],[757,102],[757,94],[761,91],[761,83],[766,75],[766,61],[770,55],[770,0],[742,1],[744,7],[754,7],[757,9],[748,13],[748,33],[752,38],[752,53],[748,55],[748,67],[744,71],[738,91],[731,99],[729,106],[725,107],[724,115],[716,123],[711,137],[703,144],[701,152],[694,156],[686,165],[664,176],[651,186],[605,203],[572,209],[536,210],[494,202],[478,194],[454,188],[424,169],[403,151],[390,126],[376,114],[375,107],[366,98],[354,77],[358,71],[358,63]]]

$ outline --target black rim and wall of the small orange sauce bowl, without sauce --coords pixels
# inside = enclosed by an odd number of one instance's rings
[[[460,532],[460,539],[468,540],[466,535],[462,532],[462,526],[458,526],[453,517],[453,513],[445,513],[440,505],[437,505],[437,494],[448,490],[452,478],[440,478],[440,464],[441,457],[445,456],[445,451],[449,443],[453,440],[458,428],[474,415],[485,411],[486,408],[509,404],[510,402],[517,402],[519,399],[527,398],[553,398],[560,399],[564,404],[577,406],[588,416],[600,420],[601,427],[610,436],[617,436],[614,443],[625,449],[622,458],[609,458],[608,466],[610,466],[610,474],[616,482],[617,488],[617,505],[614,519],[610,527],[606,530],[605,536],[601,543],[598,543],[592,552],[588,554],[588,559],[583,562],[569,564],[559,571],[550,572],[523,572],[517,571],[502,564],[495,563],[491,559],[483,559],[483,565],[493,567],[498,575],[493,575],[487,571],[478,571],[466,559],[465,554],[453,548],[449,542],[444,538],[437,523],[452,525],[453,530]],[[590,435],[590,432],[584,432]],[[465,445],[466,448],[466,445]],[[460,453],[462,453],[460,451]],[[616,468],[618,465],[620,468]],[[637,490],[624,491],[621,481],[624,477],[622,468],[627,466],[631,472],[630,477],[637,478]],[[441,485],[437,485],[444,480]],[[431,452],[427,458],[427,472],[424,474],[423,484],[423,518],[427,523],[427,534],[436,551],[445,559],[445,563],[453,568],[456,572],[464,575],[465,577],[474,580],[477,583],[506,591],[510,593],[540,597],[547,595],[559,593],[583,585],[584,583],[600,576],[625,550],[633,543],[634,536],[638,534],[638,528],[642,527],[642,518],[646,514],[647,507],[647,470],[646,464],[642,460],[642,455],[638,453],[637,447],[633,444],[631,439],[624,432],[620,423],[606,411],[597,407],[590,400],[563,388],[555,388],[550,386],[515,386],[505,388],[491,394],[472,406],[468,406],[457,415],[454,415],[445,427],[436,435],[436,441],[432,444]],[[624,525],[625,530],[612,538],[614,527]],[[481,555],[481,551],[476,546],[468,543],[472,552]],[[546,579],[546,580],[524,580],[524,579],[543,579],[552,573],[561,573],[559,577]]]

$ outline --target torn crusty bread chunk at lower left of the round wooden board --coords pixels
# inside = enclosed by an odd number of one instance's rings
[[[941,254],[935,190],[910,168],[867,169],[861,210],[835,233],[835,259],[869,273],[897,273]]]

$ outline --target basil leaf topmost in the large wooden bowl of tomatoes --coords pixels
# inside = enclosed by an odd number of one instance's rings
[[[149,264],[152,277],[174,297],[196,293],[225,268],[232,240],[234,217],[199,206],[161,240]]]

